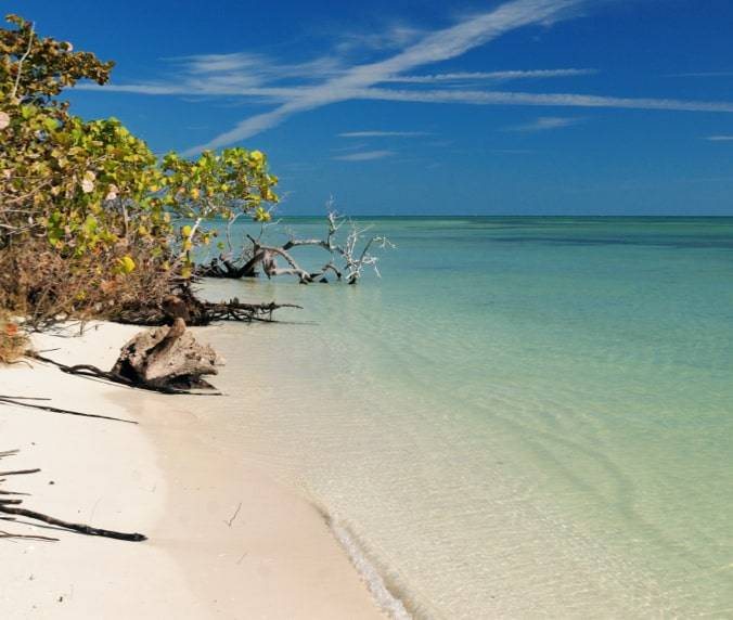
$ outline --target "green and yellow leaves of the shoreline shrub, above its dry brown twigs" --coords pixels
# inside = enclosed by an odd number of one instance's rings
[[[80,79],[107,81],[112,62],[70,43],[39,38],[31,23],[0,28],[0,250],[44,237],[69,261],[105,255],[115,275],[180,269],[215,231],[202,223],[275,203],[277,177],[259,151],[207,151],[160,162],[115,118],[86,121],[55,99]],[[194,223],[176,228],[173,220]],[[177,231],[178,230],[178,234]],[[132,251],[134,250],[134,251]],[[88,263],[88,260],[87,262]],[[152,266],[152,267],[151,267]]]

